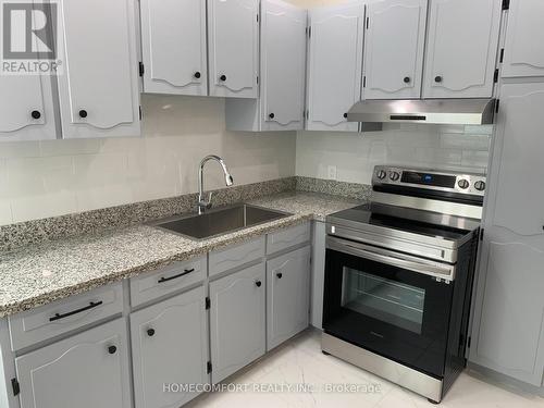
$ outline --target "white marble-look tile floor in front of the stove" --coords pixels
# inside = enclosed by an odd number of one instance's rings
[[[209,393],[195,399],[190,408],[290,408],[290,407],[435,407],[426,398],[388,381],[324,356],[317,331],[308,331],[282,346],[244,372],[228,379],[233,386],[249,391]],[[306,392],[256,392],[255,384],[269,388],[307,384]],[[280,385],[277,385],[280,384]],[[327,392],[326,384],[359,384],[367,392]],[[440,407],[544,408],[544,398],[508,392],[467,373],[462,373]]]

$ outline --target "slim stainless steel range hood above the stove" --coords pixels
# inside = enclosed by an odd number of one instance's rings
[[[364,100],[347,113],[349,122],[489,125],[495,99]]]

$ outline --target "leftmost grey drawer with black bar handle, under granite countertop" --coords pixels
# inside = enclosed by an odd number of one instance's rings
[[[20,350],[123,311],[123,287],[115,283],[9,318],[11,346]]]

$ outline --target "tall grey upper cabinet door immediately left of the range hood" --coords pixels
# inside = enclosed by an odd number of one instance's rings
[[[363,20],[362,2],[310,11],[307,129],[358,131],[346,113],[361,99]]]

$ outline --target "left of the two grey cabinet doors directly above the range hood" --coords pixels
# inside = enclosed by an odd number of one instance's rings
[[[382,0],[367,16],[363,98],[420,98],[426,0]]]

